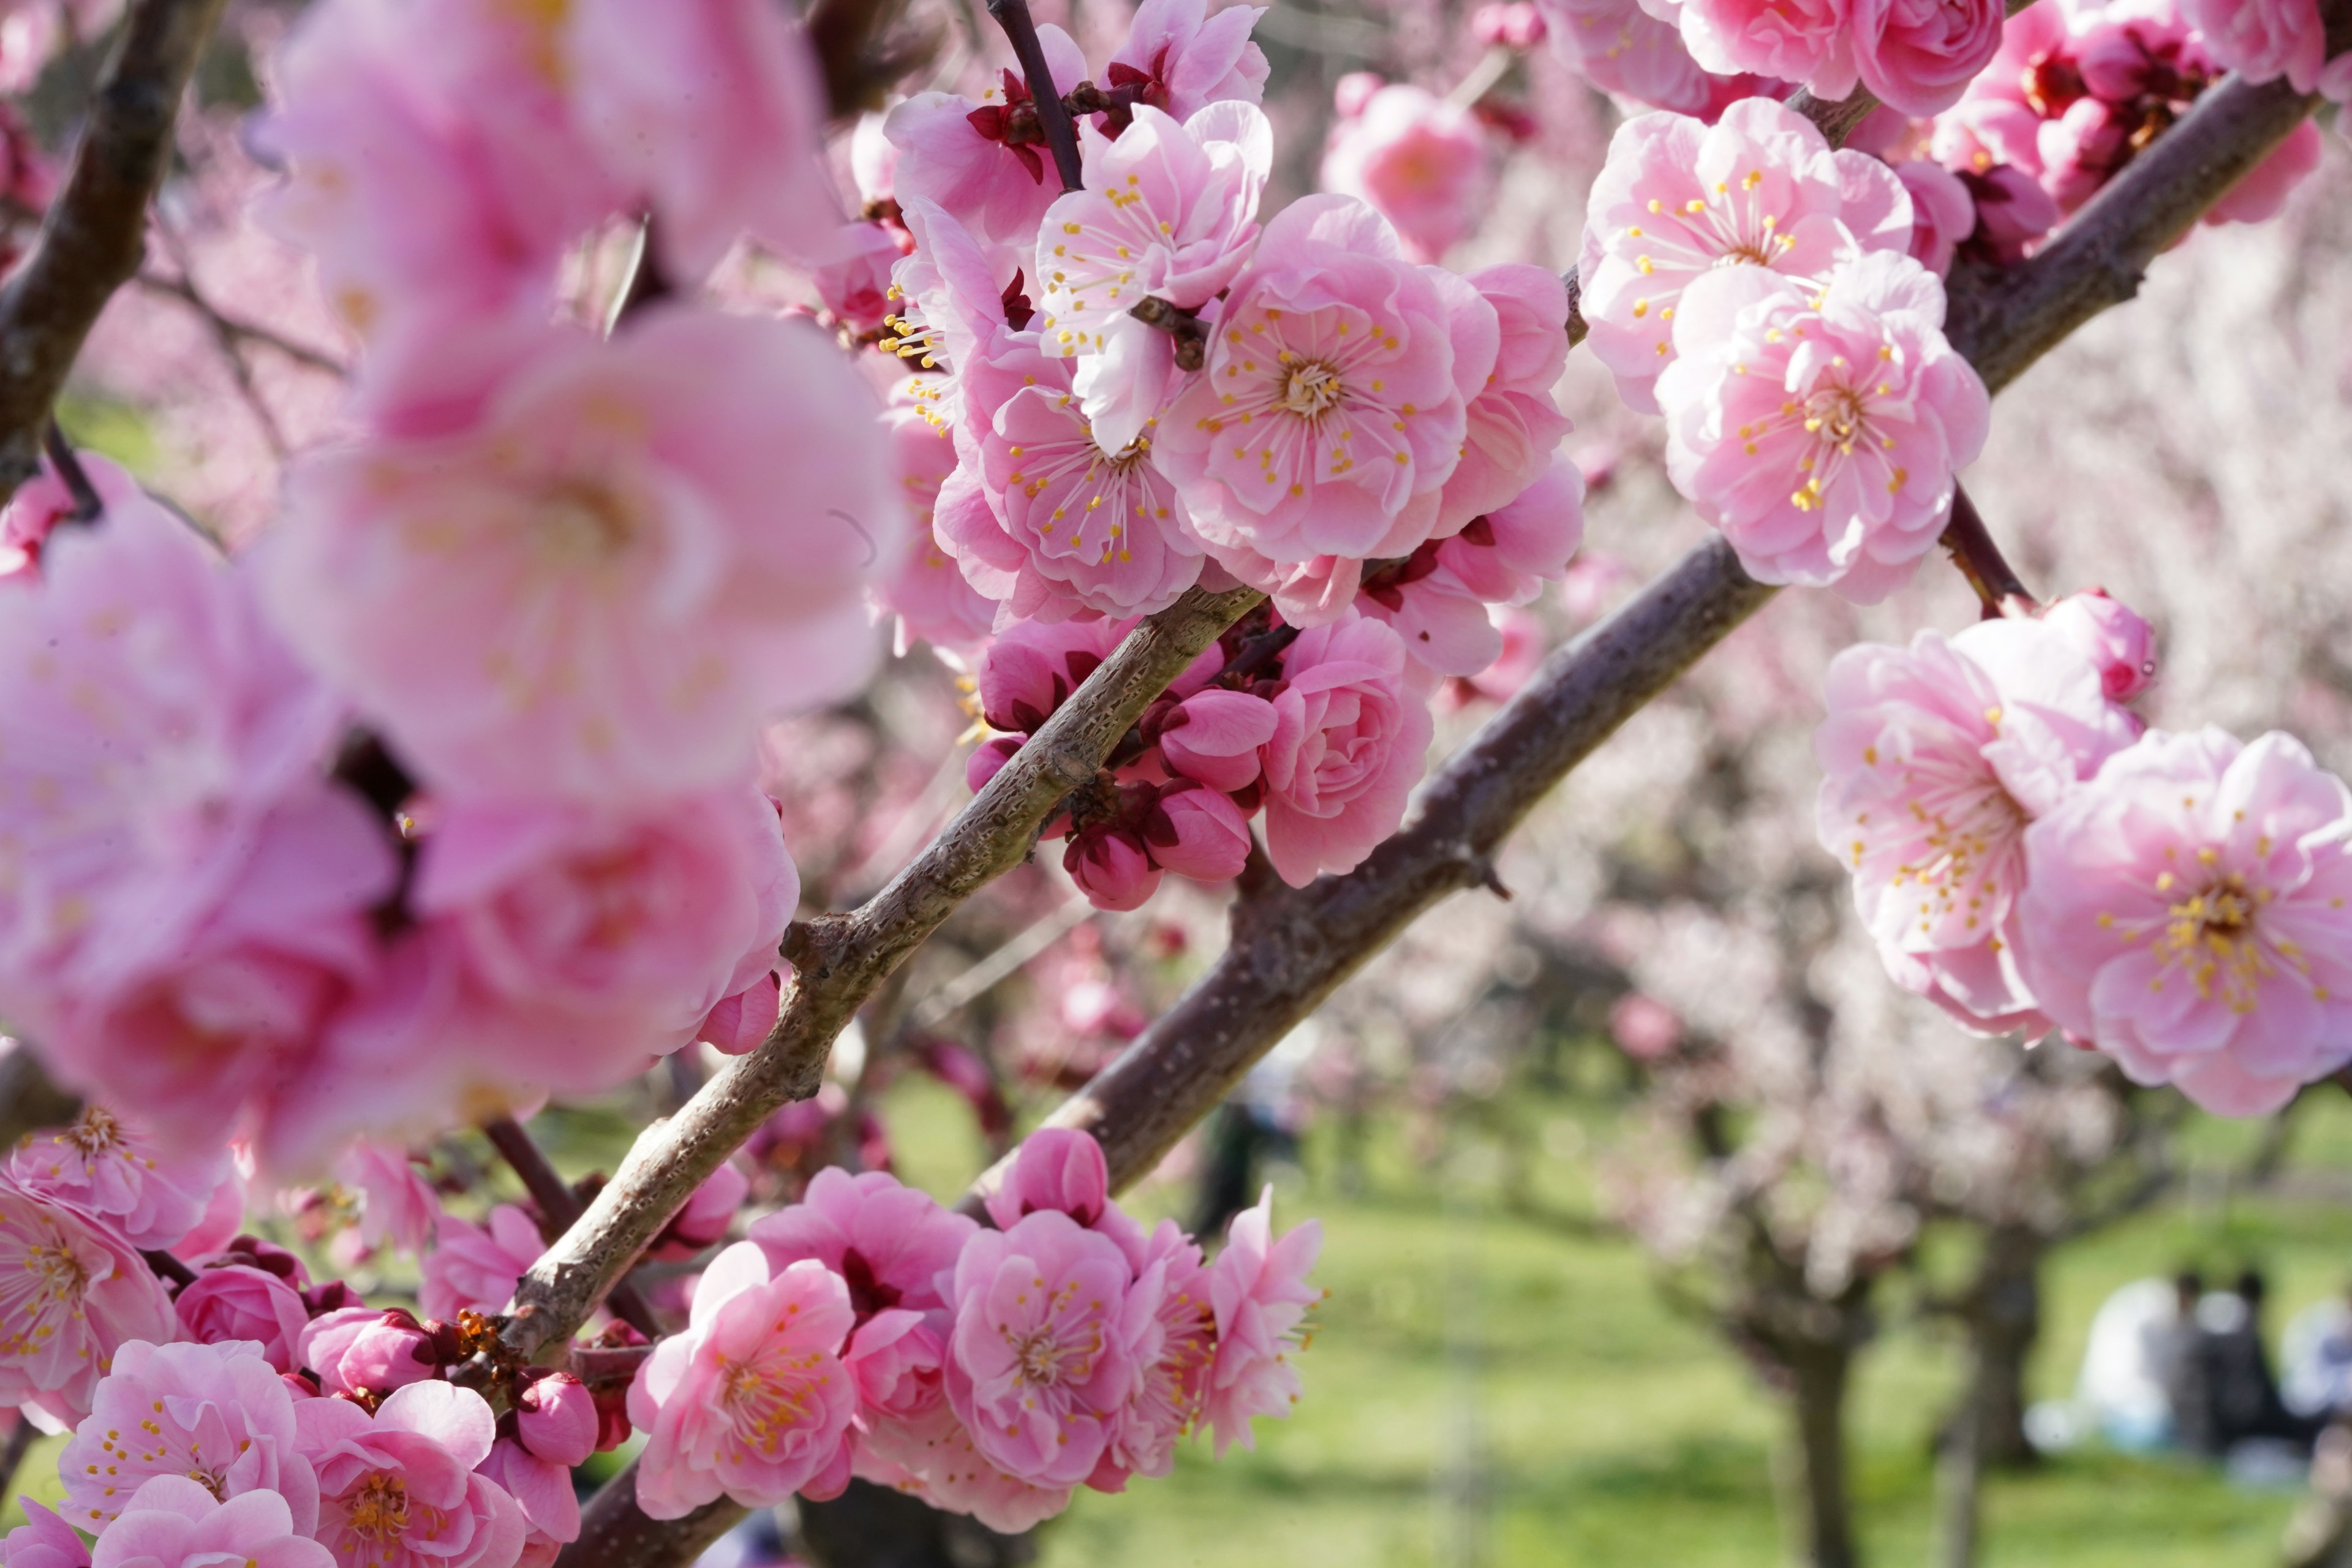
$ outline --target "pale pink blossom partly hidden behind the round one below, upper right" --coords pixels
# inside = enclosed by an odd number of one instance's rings
[[[1905,252],[1910,237],[1893,169],[1832,153],[1811,120],[1771,99],[1733,103],[1712,127],[1637,115],[1592,181],[1578,310],[1618,397],[1656,414],[1693,282],[1724,266],[1820,282],[1860,252]]]

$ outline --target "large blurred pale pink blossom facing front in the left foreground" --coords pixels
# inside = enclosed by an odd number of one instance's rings
[[[807,324],[548,329],[477,425],[306,458],[270,602],[428,783],[713,785],[870,670],[858,595],[903,527],[873,414]]]

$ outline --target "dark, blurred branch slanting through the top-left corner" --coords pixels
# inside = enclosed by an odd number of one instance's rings
[[[82,339],[139,275],[172,125],[223,0],[136,0],[89,103],[40,247],[0,292],[0,498],[40,468],[40,433]]]

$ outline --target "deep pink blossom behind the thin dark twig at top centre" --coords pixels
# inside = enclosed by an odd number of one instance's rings
[[[1044,24],[1037,40],[1044,45],[1054,89],[1077,87],[1087,75],[1087,56],[1070,35]],[[1009,110],[1030,101],[1030,85],[1007,71],[978,103],[950,92],[917,92],[891,108],[882,132],[898,148],[898,202],[908,209],[915,200],[936,202],[981,240],[1033,244],[1044,209],[1061,195],[1061,181],[1047,169],[1042,146],[1004,139]]]

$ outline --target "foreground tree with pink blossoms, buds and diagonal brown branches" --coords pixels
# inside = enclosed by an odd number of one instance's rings
[[[223,0],[106,9],[0,33],[26,80],[111,28],[59,179],[7,127],[0,1016],[82,1098],[0,1173],[0,1399],[71,1432],[12,1566],[682,1563],[851,1481],[1023,1530],[1247,1443],[1315,1227],[1115,1194],[1778,588],[1872,604],[1938,543],[1983,623],[1842,654],[1816,738],[1886,976],[2225,1114],[2352,1060],[2352,792],[2150,729],[2147,623],[2042,604],[1959,487],[1994,390],[2310,172],[2343,7],[1510,7],[1449,96],[1343,85],[1331,188],[1275,202],[1256,7],[1145,0],[1096,71],[997,0],[1011,66],[894,99],[882,0],[315,0],[242,127],[289,327],[158,205]],[[1578,266],[1451,270],[1545,33],[1628,101]],[[226,534],[52,414],[129,282],[285,458]],[[1717,536],[1428,776],[1583,541],[1588,336]],[[334,383],[299,435],[263,348]],[[760,743],[877,621],[969,672],[971,799],[804,912]],[[1103,910],[1230,884],[1228,950],[960,1211],[818,1159],[739,1225],[734,1154],[1047,842]],[[520,1124],[699,1048],[593,1192]],[[407,1154],[454,1126],[529,1208],[437,1213]],[[419,1312],[240,1234],[327,1173]]]

